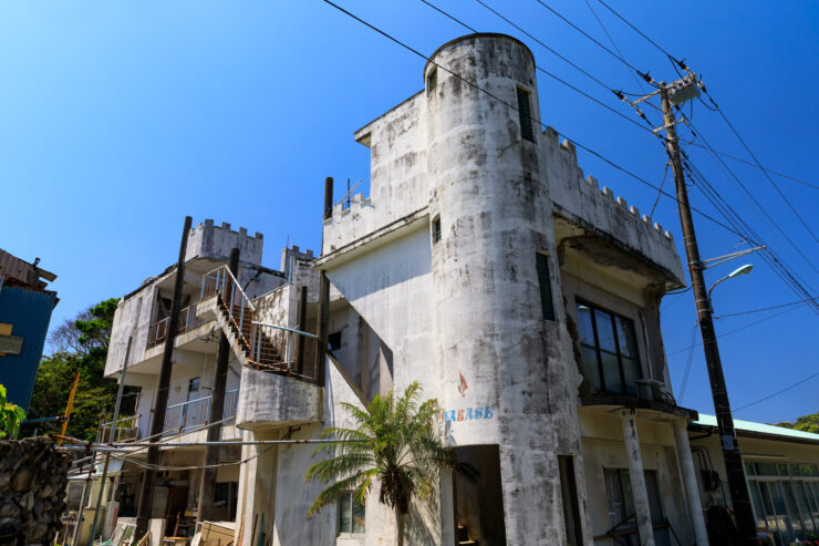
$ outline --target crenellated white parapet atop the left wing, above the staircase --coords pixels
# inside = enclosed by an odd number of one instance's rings
[[[265,236],[259,231],[248,235],[246,227],[239,227],[239,230],[235,231],[230,229],[230,224],[227,222],[217,226],[211,218],[208,218],[205,223],[190,228],[185,260],[191,258],[227,260],[230,249],[236,247],[239,249],[242,262],[260,266],[263,239]]]

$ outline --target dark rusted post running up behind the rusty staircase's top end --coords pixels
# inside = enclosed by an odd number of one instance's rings
[[[228,269],[234,277],[238,278],[239,272],[239,249],[230,249],[228,259]],[[219,352],[216,356],[216,370],[214,371],[214,390],[210,394],[210,415],[211,423],[218,423],[225,416],[225,388],[227,385],[228,363],[230,361],[230,342],[225,332],[219,336]],[[221,425],[208,427],[207,441],[218,442],[220,439]],[[214,514],[214,495],[216,492],[216,466],[219,462],[219,446],[208,445],[205,450],[205,468],[201,470],[201,482],[199,483],[199,507],[196,511],[196,523],[206,522],[212,518]]]

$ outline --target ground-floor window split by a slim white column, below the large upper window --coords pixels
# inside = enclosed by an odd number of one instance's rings
[[[639,546],[637,525],[634,513],[634,495],[631,478],[625,468],[605,468],[605,495],[609,499],[609,523],[612,533],[624,533],[618,536],[620,544]],[[671,546],[668,526],[663,515],[660,496],[660,484],[656,471],[644,471],[645,488],[649,494],[651,523],[654,526],[654,544]]]

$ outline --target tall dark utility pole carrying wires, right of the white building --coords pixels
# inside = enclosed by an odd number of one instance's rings
[[[686,82],[681,81],[675,83],[685,84]],[[663,105],[663,121],[665,123],[665,151],[671,158],[672,171],[674,173],[680,224],[683,228],[685,254],[688,259],[691,284],[694,288],[697,320],[703,338],[703,350],[705,351],[705,363],[708,368],[711,393],[714,399],[714,411],[717,419],[717,429],[719,430],[725,472],[728,477],[728,490],[730,491],[730,499],[734,505],[739,540],[740,544],[758,544],[756,539],[756,522],[750,506],[748,488],[745,483],[743,460],[739,455],[739,446],[736,441],[734,418],[730,414],[728,391],[725,387],[725,375],[723,374],[719,348],[717,347],[716,332],[714,331],[714,320],[712,317],[714,311],[705,286],[705,278],[703,277],[704,264],[699,259],[699,249],[694,233],[694,220],[692,219],[691,207],[688,205],[688,192],[685,186],[685,175],[683,174],[683,165],[680,158],[680,143],[677,142],[674,111],[670,99],[668,86],[665,85],[665,82],[660,83],[660,96]]]

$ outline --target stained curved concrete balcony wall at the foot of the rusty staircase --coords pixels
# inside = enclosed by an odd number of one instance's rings
[[[243,367],[236,425],[259,430],[323,420],[321,387]]]

